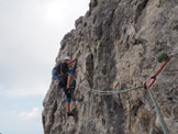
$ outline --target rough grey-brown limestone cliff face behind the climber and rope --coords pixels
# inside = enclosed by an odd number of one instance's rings
[[[96,90],[142,86],[162,53],[178,49],[178,0],[91,0],[60,43],[56,62],[77,57],[68,118],[65,94],[52,80],[43,105],[45,134],[163,134],[148,92],[100,96]],[[178,53],[178,52],[177,52]],[[178,55],[151,88],[170,134],[178,134]]]

